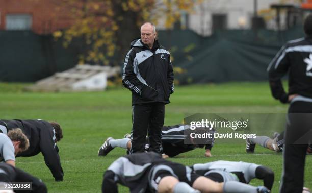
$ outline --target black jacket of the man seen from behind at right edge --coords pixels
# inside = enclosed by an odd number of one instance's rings
[[[284,91],[281,78],[289,71],[289,92]],[[288,95],[312,98],[312,37],[287,42],[268,67],[272,95],[282,103]]]

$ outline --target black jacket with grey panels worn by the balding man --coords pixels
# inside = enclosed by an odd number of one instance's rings
[[[151,50],[141,39],[133,40],[124,59],[122,83],[132,91],[132,105],[170,103],[174,91],[170,53],[157,40]]]

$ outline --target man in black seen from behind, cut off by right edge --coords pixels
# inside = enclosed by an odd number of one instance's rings
[[[312,15],[304,21],[305,38],[289,41],[268,67],[272,95],[290,103],[283,146],[282,193],[301,193],[308,143],[312,141]],[[289,73],[289,92],[281,78]],[[300,114],[298,114],[300,113]]]

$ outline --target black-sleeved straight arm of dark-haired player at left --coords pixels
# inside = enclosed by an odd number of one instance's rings
[[[50,169],[55,181],[63,181],[64,172],[61,166],[59,149],[53,140],[53,133],[47,129],[40,130],[40,150],[46,166]]]

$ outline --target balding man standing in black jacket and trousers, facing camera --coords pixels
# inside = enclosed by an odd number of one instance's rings
[[[174,91],[170,53],[159,44],[155,26],[141,26],[141,38],[131,42],[124,59],[122,83],[132,92],[132,132],[129,153],[144,152],[146,134],[150,151],[162,152],[165,104]]]

